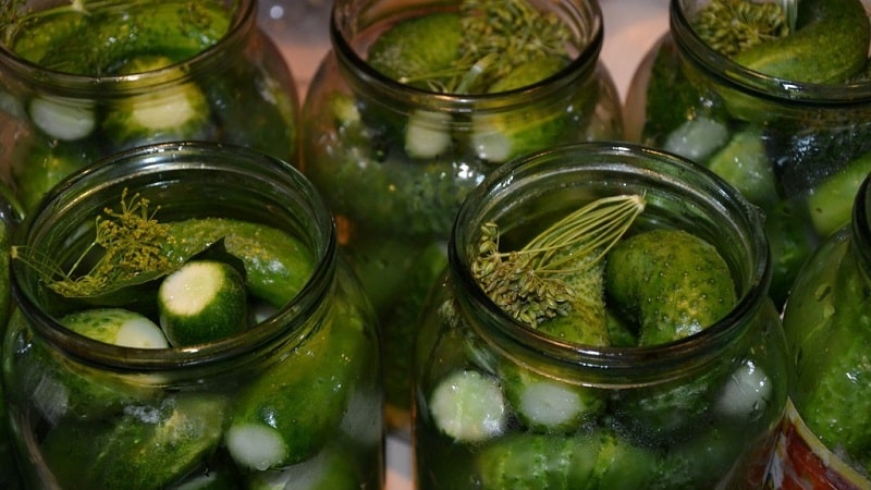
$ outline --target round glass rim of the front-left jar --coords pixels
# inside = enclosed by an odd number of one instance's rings
[[[245,169],[236,167],[236,162],[245,163]],[[296,341],[305,336],[306,332],[303,330],[307,318],[328,294],[338,260],[332,216],[314,185],[293,166],[248,147],[212,142],[165,143],[137,147],[102,158],[64,179],[36,208],[28,211],[15,231],[13,245],[28,244],[26,238],[35,226],[50,226],[51,223],[46,219],[51,213],[62,213],[66,208],[74,209],[77,204],[101,189],[119,189],[115,194],[119,195],[120,189],[131,182],[151,176],[158,180],[157,183],[151,182],[151,186],[171,186],[176,182],[173,180],[173,172],[191,171],[203,175],[214,172],[232,173],[228,177],[236,179],[240,185],[254,185],[250,177],[254,172],[257,173],[258,184],[266,183],[298,193],[295,204],[305,204],[308,207],[294,211],[305,215],[304,218],[309,220],[305,223],[305,231],[316,235],[311,238],[314,243],[307,244],[315,254],[315,267],[300,291],[266,320],[229,338],[186,347],[137,348],[96,341],[65,328],[52,315],[42,310],[33,287],[21,284],[25,281],[25,274],[13,274],[13,297],[41,338],[72,355],[105,366],[121,369],[174,369],[243,356],[280,341],[289,332],[300,333]],[[245,176],[248,176],[247,181]],[[95,180],[97,185],[94,185]],[[269,208],[273,213],[274,205],[275,203],[270,203],[267,198],[262,200],[263,208]],[[38,242],[38,237],[34,237],[34,241]],[[26,265],[13,261],[13,268],[26,268]]]

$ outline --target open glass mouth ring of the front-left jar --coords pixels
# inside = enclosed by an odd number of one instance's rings
[[[244,188],[244,204],[222,197],[222,189]],[[287,332],[305,336],[305,326],[328,294],[335,267],[335,230],[332,217],[314,186],[290,163],[233,145],[187,142],[149,145],[101,159],[57,185],[25,217],[13,245],[39,247],[51,233],[62,246],[64,237],[77,232],[106,207],[115,207],[125,188],[136,191],[176,219],[203,218],[185,215],[185,206],[161,201],[173,187],[188,195],[208,196],[208,209],[216,218],[247,219],[256,215],[267,225],[292,228],[314,254],[315,267],[302,290],[287,304],[256,326],[208,344],[170,348],[135,348],[99,342],[62,326],[44,310],[47,296],[39,273],[21,260],[13,260],[13,294],[23,315],[41,338],[58,348],[89,362],[121,369],[173,369],[243,356],[274,342]],[[290,189],[290,194],[289,191]],[[290,196],[290,197],[289,197]],[[197,205],[203,206],[203,205]],[[247,207],[246,207],[247,206]],[[257,210],[252,211],[250,206]],[[200,209],[200,208],[197,208]],[[242,218],[242,217],[245,218]],[[70,222],[66,222],[66,221]],[[272,221],[270,221],[272,220]],[[61,230],[61,232],[58,232]],[[46,249],[51,253],[59,250]],[[297,339],[298,340],[298,339]]]

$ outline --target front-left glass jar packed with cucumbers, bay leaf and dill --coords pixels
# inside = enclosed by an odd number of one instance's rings
[[[262,298],[249,306],[247,330],[147,348],[73,328],[83,322],[69,319],[79,314],[103,324],[101,311],[124,308],[145,316],[142,324],[164,311],[154,306],[150,275],[81,299],[50,289],[45,269],[33,267],[54,257],[68,268],[94,241],[95,217],[111,219],[105,209],[119,199],[121,216],[169,226],[161,246],[181,253],[179,261],[195,254],[243,262],[249,296]],[[200,244],[198,236],[210,238]],[[383,483],[375,315],[336,254],[330,213],[290,163],[207,143],[130,150],[56,186],[27,215],[14,246],[16,308],[3,379],[34,488]]]

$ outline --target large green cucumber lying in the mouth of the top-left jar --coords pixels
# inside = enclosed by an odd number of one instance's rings
[[[61,22],[69,17],[65,15],[52,23],[63,26],[54,33],[50,26],[42,27],[39,39],[46,47],[27,46],[26,52],[44,56],[30,61],[49,70],[93,76],[115,74],[128,60],[143,54],[161,53],[177,63],[218,42],[232,17],[223,2],[211,0],[97,3],[82,9],[84,15],[72,33],[69,24]],[[28,32],[21,28],[16,35],[24,39]],[[13,39],[13,50],[15,42]]]

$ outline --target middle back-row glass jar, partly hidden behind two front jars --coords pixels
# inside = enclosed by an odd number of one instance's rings
[[[573,58],[553,76],[520,88],[430,91],[392,79],[367,61],[391,26],[469,3],[340,0],[331,19],[332,49],[303,107],[303,171],[335,213],[341,246],[378,311],[394,428],[408,427],[414,324],[446,264],[444,243],[465,195],[518,152],[622,132],[618,96],[599,61],[603,34],[596,1],[529,2],[568,27]],[[483,9],[506,4],[481,2]],[[503,140],[501,131],[520,121],[531,128]],[[490,139],[479,144],[478,137]],[[508,146],[511,138],[528,139]]]

